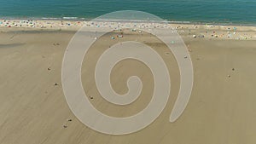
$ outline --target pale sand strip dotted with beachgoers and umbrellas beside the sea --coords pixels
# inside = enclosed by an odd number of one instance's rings
[[[172,28],[182,37],[194,37],[205,39],[235,39],[256,40],[256,26],[234,26],[234,25],[210,25],[210,24],[177,24],[138,21],[116,21],[116,20],[3,20],[0,19],[0,32],[77,32],[82,26],[88,27],[112,27],[118,30],[119,26],[129,25],[127,28]],[[136,26],[134,26],[136,24]]]

